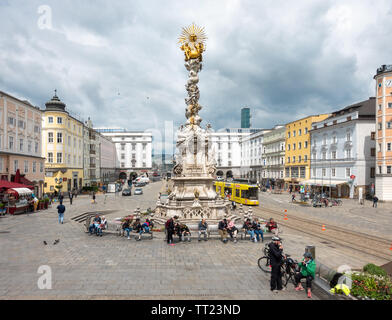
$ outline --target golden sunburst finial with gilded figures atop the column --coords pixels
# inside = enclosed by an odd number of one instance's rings
[[[204,27],[201,28],[194,23],[182,28],[178,43],[181,44],[181,50],[185,53],[185,61],[189,59],[201,59],[201,54],[205,51],[205,41],[207,36]]]

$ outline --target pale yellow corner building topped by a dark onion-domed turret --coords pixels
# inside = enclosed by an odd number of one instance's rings
[[[83,122],[65,110],[56,95],[45,103],[42,119],[44,192],[68,192],[83,186]]]

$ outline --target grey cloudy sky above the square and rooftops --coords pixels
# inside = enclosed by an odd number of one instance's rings
[[[178,36],[204,26],[200,115],[270,128],[374,95],[392,63],[392,1],[0,0],[0,90],[44,107],[57,88],[98,127],[184,123]]]

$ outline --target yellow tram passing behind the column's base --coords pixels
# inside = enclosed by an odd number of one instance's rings
[[[222,197],[230,197],[230,201],[249,206],[259,205],[259,188],[257,185],[245,183],[215,181],[216,193]]]

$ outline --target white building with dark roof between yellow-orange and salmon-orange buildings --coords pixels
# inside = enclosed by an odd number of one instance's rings
[[[375,98],[348,106],[314,123],[310,180],[305,185],[332,197],[374,192]]]

